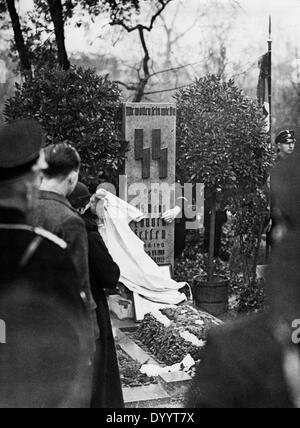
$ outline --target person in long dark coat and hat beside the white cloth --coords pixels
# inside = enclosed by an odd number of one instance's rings
[[[90,202],[91,195],[88,188],[78,183],[70,197],[73,207],[80,212]],[[123,408],[123,394],[120,381],[118,359],[109,307],[105,290],[117,287],[120,278],[120,269],[113,261],[103,239],[98,231],[95,206],[83,214],[89,242],[89,267],[91,287],[97,304],[97,319],[100,329],[100,339],[97,343],[97,357],[94,370],[93,408]]]

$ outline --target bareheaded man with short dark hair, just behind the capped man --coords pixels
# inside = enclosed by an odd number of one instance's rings
[[[96,340],[99,331],[96,322],[96,304],[90,288],[87,232],[83,220],[67,199],[77,185],[81,160],[77,151],[66,143],[49,146],[44,153],[48,167],[43,173],[40,196],[31,222],[67,243],[81,288],[85,292],[91,331],[94,331]]]

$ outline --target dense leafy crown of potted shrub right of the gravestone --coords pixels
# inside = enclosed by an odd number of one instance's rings
[[[265,184],[272,151],[258,104],[233,80],[210,75],[180,90],[177,173],[204,183],[219,202],[241,198]]]

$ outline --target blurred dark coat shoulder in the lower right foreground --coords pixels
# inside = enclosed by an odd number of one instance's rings
[[[283,348],[267,315],[214,331],[189,390],[191,408],[292,408]]]

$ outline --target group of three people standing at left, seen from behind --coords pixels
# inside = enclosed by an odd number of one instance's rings
[[[104,292],[120,271],[78,152],[43,138],[31,120],[0,131],[0,407],[120,408]]]

